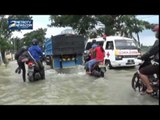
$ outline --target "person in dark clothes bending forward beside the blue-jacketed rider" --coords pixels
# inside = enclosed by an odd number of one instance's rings
[[[23,46],[21,49],[19,49],[15,54],[15,60],[17,60],[18,68],[15,70],[16,73],[22,72],[22,78],[23,81],[26,81],[26,68],[25,68],[25,62],[22,61],[22,58],[27,56],[27,46]]]

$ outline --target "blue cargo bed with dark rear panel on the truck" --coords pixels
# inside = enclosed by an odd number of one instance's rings
[[[80,35],[56,35],[46,41],[48,55],[83,54],[85,38]]]

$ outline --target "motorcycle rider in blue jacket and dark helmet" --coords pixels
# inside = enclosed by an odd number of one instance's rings
[[[43,58],[43,52],[41,47],[38,45],[37,39],[32,39],[32,46],[28,48],[29,53],[33,57],[35,64],[38,64],[38,67],[41,71],[44,71],[44,66],[41,62],[41,57]],[[42,75],[42,79],[45,79],[45,76]]]

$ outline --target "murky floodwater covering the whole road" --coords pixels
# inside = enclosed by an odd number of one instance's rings
[[[135,68],[107,70],[104,78],[95,78],[83,66],[62,71],[45,66],[45,80],[24,83],[16,67],[16,61],[0,66],[0,105],[159,105],[131,88]]]

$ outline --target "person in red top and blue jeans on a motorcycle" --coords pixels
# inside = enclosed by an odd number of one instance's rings
[[[92,66],[96,62],[98,62],[98,61],[102,61],[103,62],[104,61],[104,55],[105,55],[105,51],[104,51],[102,46],[93,44],[92,48],[94,48],[94,51],[95,51],[95,58],[91,59],[90,61],[87,62],[88,69],[89,69],[89,71],[87,72],[88,74],[91,74]]]

